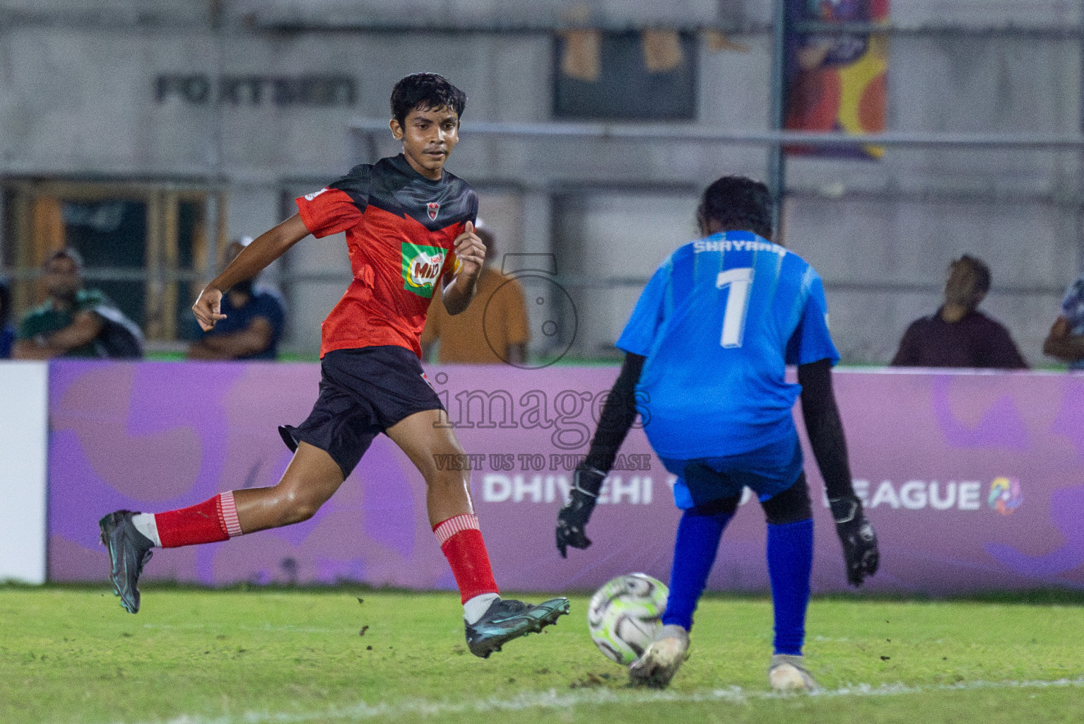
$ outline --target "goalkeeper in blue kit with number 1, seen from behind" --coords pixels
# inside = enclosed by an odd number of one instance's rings
[[[603,479],[638,412],[670,473],[683,510],[662,628],[630,667],[635,684],[666,686],[687,657],[693,611],[744,487],[767,519],[775,616],[769,682],[812,690],[802,645],[813,566],[813,515],[791,416],[802,415],[828,493],[848,579],[877,571],[877,538],[854,494],[843,427],[831,389],[839,353],[828,334],[821,277],[772,243],[764,184],[725,177],[704,192],[705,238],[674,251],[648,282],[617,346],[624,364],[604,406],[569,502],[557,548],[585,548]],[[786,365],[798,365],[798,384]]]

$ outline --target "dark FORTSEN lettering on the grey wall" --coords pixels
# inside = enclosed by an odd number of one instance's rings
[[[164,73],[155,79],[155,101],[180,99],[191,105],[352,106],[358,81],[348,75],[224,75]]]

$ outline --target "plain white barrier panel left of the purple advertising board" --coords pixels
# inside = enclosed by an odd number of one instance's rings
[[[49,366],[0,361],[0,581],[46,582]]]

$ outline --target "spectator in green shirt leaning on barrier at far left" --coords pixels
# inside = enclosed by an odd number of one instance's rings
[[[46,259],[49,298],[23,316],[12,357],[143,357],[143,333],[101,289],[82,284],[82,257],[72,248]]]

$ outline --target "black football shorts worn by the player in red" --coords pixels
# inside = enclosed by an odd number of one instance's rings
[[[292,451],[308,442],[332,456],[348,477],[378,434],[404,417],[443,410],[417,357],[386,345],[336,349],[320,363],[320,397],[298,427],[279,428]]]

